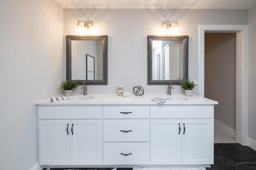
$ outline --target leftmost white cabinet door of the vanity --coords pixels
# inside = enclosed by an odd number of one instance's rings
[[[40,165],[70,164],[70,121],[39,121]]]

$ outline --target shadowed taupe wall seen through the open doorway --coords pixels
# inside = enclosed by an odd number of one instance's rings
[[[236,130],[236,33],[204,34],[204,96],[214,119]]]

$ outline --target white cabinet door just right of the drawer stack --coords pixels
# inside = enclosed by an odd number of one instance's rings
[[[150,121],[150,164],[181,164],[180,127],[180,119]]]

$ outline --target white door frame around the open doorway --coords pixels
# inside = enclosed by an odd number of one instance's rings
[[[249,26],[199,25],[198,94],[204,97],[204,33],[236,32],[236,141],[248,146]]]

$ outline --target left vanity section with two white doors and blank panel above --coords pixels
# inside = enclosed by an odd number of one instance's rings
[[[40,165],[102,164],[102,107],[39,107]]]

